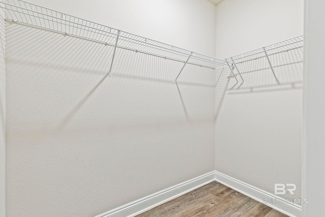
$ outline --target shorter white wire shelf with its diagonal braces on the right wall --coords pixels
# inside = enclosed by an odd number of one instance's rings
[[[235,69],[238,73],[238,75],[240,76],[242,83],[245,84],[245,81],[242,77],[242,75],[240,74],[241,72],[238,70],[237,65],[247,62],[247,61],[251,61],[251,60],[256,60],[259,58],[267,58],[268,63],[270,65],[271,71],[273,73],[274,76],[274,81],[277,81],[277,77],[276,77],[276,73],[274,71],[274,68],[272,66],[272,63],[270,61],[269,56],[271,55],[275,55],[278,53],[282,53],[282,52],[287,52],[290,50],[294,50],[294,49],[298,49],[298,48],[302,48],[304,46],[304,36],[297,36],[291,39],[287,39],[281,42],[277,42],[265,47],[261,47],[255,50],[251,50],[242,54],[238,54],[235,56],[231,56],[228,58],[225,58],[224,60],[226,61],[227,65],[229,66],[233,76],[235,77],[236,81],[237,81],[237,85],[239,85],[239,81],[235,76]]]

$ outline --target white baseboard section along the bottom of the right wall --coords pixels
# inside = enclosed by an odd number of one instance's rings
[[[298,204],[290,203],[274,194],[258,189],[218,171],[215,171],[215,180],[286,215],[291,217],[301,216],[301,206]],[[275,203],[275,201],[277,202]]]

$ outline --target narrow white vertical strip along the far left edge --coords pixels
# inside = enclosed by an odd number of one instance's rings
[[[5,216],[5,165],[6,165],[6,71],[5,22],[0,10],[0,216]]]

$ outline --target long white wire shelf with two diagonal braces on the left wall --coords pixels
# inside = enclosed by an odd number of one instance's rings
[[[123,48],[180,61],[183,63],[178,76],[186,64],[215,69],[226,65],[222,59],[161,43],[122,30],[85,20],[76,16],[58,12],[22,0],[0,0],[5,20],[31,27],[42,28],[52,32],[82,38],[114,47],[109,76],[113,66],[116,48]],[[178,78],[177,76],[177,78]],[[175,79],[175,83],[176,80]]]

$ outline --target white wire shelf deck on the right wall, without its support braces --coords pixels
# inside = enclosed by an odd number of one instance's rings
[[[239,63],[244,63],[245,61],[267,57],[267,55],[270,56],[277,53],[302,48],[303,46],[304,46],[304,36],[302,35],[278,43],[274,43],[262,48],[251,50],[239,55],[225,58],[225,61],[229,61],[229,63],[233,63],[233,61],[235,61],[236,64],[239,64]]]

